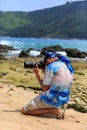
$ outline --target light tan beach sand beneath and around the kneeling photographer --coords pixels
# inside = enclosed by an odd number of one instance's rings
[[[52,115],[25,116],[21,107],[37,94],[0,83],[0,130],[87,130],[87,113],[67,109],[64,120]]]

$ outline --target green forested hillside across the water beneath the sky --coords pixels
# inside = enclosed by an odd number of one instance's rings
[[[0,35],[87,39],[87,1],[33,12],[0,11]]]

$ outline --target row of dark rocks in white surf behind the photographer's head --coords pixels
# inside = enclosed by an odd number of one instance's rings
[[[44,47],[41,50],[41,55],[45,55],[46,51],[58,51],[58,52],[64,51],[64,52],[67,53],[68,57],[72,57],[72,58],[85,58],[85,57],[87,57],[87,52],[81,52],[78,49],[62,48],[61,46]],[[29,52],[30,52],[29,49],[27,51],[22,51],[19,54],[19,57],[28,57],[29,56]]]

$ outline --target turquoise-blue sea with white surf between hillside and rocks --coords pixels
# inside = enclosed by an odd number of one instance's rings
[[[21,50],[34,48],[41,50],[43,47],[60,45],[63,48],[77,48],[80,51],[87,52],[87,40],[79,39],[54,39],[54,38],[12,38],[0,37],[1,45],[13,46],[18,51],[11,52],[19,53]]]

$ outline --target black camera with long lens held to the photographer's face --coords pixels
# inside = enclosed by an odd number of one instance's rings
[[[44,61],[39,61],[39,62],[29,62],[29,61],[25,61],[24,62],[24,68],[36,68],[36,65],[38,65],[38,68],[45,68],[45,63]]]

